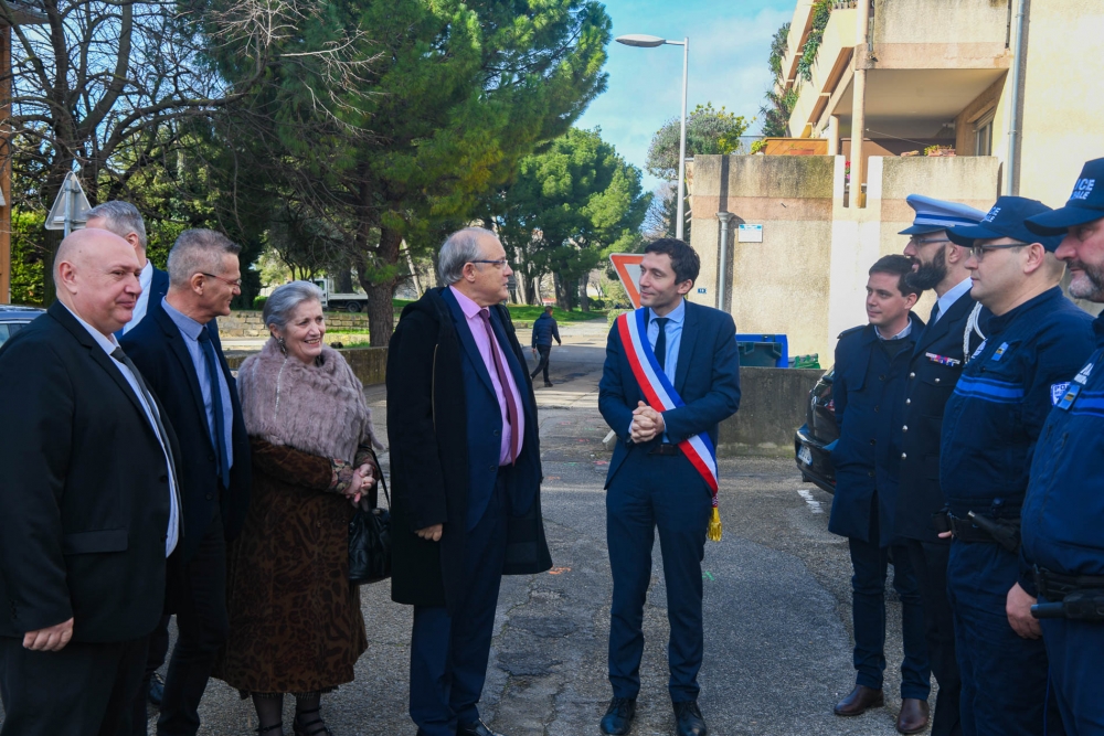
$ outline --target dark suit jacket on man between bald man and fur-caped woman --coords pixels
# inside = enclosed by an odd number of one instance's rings
[[[150,295],[152,297],[152,295]],[[160,305],[160,300],[158,300]],[[206,409],[200,391],[195,366],[184,344],[184,337],[163,309],[147,312],[147,319],[127,332],[120,340],[123,350],[134,361],[142,377],[164,405],[164,413],[180,442],[180,494],[183,503],[184,536],[177,547],[182,559],[188,561],[211,523],[215,508],[222,511],[226,538],[233,538],[245,523],[250,506],[252,469],[250,438],[245,431],[242,405],[237,399],[237,382],[222,354],[217,333],[212,334],[222,373],[230,385],[234,424],[231,442],[234,465],[230,471],[230,488],[219,493],[219,471],[211,433],[208,429]]]

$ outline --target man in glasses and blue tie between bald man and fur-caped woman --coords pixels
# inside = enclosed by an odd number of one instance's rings
[[[212,320],[241,291],[241,248],[209,230],[188,230],[169,253],[169,292],[123,346],[161,397],[187,462],[180,469],[188,534],[169,558],[166,610],[180,636],[169,661],[157,732],[194,734],[197,710],[226,639],[226,542],[250,502],[250,444],[235,381]],[[136,706],[137,707],[137,706]]]

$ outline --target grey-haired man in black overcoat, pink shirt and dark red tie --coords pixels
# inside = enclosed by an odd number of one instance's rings
[[[424,736],[492,736],[478,702],[502,575],[552,567],[537,403],[500,306],[510,270],[490,231],[445,241],[442,281],[403,310],[388,354],[394,570],[414,606],[410,713]]]

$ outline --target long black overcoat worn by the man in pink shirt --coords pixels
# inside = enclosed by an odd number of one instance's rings
[[[446,606],[463,598],[466,579],[468,440],[460,340],[443,289],[432,289],[403,310],[388,353],[388,438],[393,495],[393,600],[415,606]],[[495,307],[510,349],[521,365],[524,354],[510,314]],[[531,381],[519,390],[535,407]],[[527,423],[519,465],[535,465],[540,483],[540,446],[535,422]],[[521,515],[508,524],[503,575],[531,575],[552,567],[541,516],[540,491]],[[414,531],[444,524],[439,543]]]

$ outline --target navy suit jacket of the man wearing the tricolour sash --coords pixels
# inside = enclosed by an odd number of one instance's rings
[[[686,406],[664,413],[664,424],[671,442],[708,433],[716,446],[716,427],[740,408],[740,358],[736,351],[736,326],[732,317],[718,309],[688,301],[682,341],[675,373],[675,391]],[[614,448],[606,476],[613,480],[631,444],[628,428],[637,402],[646,402],[626,358],[626,346],[615,324],[606,342],[606,363],[598,384],[598,410],[622,440]],[[662,441],[656,438],[652,442]]]

